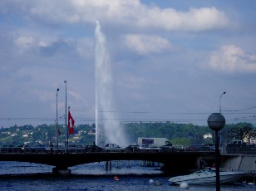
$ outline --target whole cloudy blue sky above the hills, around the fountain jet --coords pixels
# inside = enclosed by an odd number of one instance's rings
[[[64,123],[65,105],[75,125],[95,123],[96,21],[111,120],[207,125],[221,110],[227,124],[255,123],[255,10],[254,0],[2,0],[0,126],[52,125],[57,108]]]

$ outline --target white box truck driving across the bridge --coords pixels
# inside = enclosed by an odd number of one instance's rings
[[[151,144],[154,146],[172,146],[172,144],[170,143],[169,140],[167,140],[166,138],[146,138],[146,137],[139,137],[138,138],[138,145],[141,144]]]

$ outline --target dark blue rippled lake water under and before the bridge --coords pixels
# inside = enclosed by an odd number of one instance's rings
[[[53,175],[52,166],[18,162],[0,162],[1,190],[184,190],[170,186],[159,167],[143,167],[139,162],[130,166],[122,161],[120,168],[112,164],[111,171],[105,163],[85,164],[72,167],[71,175]],[[128,166],[128,167],[127,167]],[[119,180],[114,179],[118,176]],[[150,184],[159,181],[160,186]],[[221,190],[255,190],[256,185],[246,183],[224,184]],[[190,185],[189,190],[215,190],[213,186]]]

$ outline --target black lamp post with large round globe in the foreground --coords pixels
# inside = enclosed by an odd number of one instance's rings
[[[208,126],[215,131],[215,168],[216,168],[216,191],[220,190],[219,185],[219,137],[218,131],[224,128],[226,120],[224,115],[220,113],[213,113],[209,115],[207,120]]]

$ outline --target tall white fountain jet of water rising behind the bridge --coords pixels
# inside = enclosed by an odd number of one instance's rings
[[[125,133],[113,102],[110,56],[99,21],[96,21],[95,39],[96,145],[103,147],[106,143],[116,143],[125,146]]]

